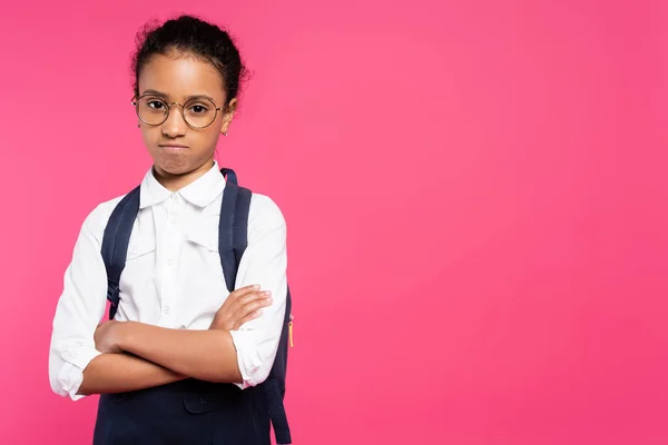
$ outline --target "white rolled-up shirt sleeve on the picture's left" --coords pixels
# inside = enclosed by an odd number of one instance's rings
[[[107,271],[100,255],[101,231],[108,218],[102,206],[85,220],[65,273],[63,289],[56,307],[49,349],[51,389],[73,400],[84,380],[84,369],[100,352],[95,329],[106,308]]]

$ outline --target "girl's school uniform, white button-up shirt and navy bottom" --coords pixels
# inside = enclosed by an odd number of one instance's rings
[[[120,277],[115,318],[177,329],[207,329],[229,295],[218,253],[225,178],[214,165],[171,192],[150,169]],[[53,319],[49,377],[53,392],[77,395],[86,366],[100,353],[94,334],[105,316],[107,273],[100,255],[105,227],[122,197],[99,205],[85,220]],[[274,201],[253,194],[248,246],[236,288],[259,284],[272,306],[232,332],[242,384],[186,379],[157,388],[101,395],[95,443],[269,444],[266,400],[256,387],[269,374],[285,317],[286,226]]]

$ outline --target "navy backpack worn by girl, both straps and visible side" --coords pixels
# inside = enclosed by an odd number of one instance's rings
[[[218,250],[225,283],[227,289],[232,293],[239,261],[248,244],[247,227],[252,191],[238,186],[234,170],[223,168],[220,174],[226,177],[226,185],[220,206],[220,220],[218,222]],[[110,303],[109,319],[112,319],[116,315],[120,301],[120,274],[125,268],[132,225],[139,212],[139,189],[140,186],[136,187],[118,202],[109,217],[102,237],[101,254],[105,267],[107,268],[107,299]],[[288,287],[285,319],[276,358],[267,379],[258,385],[262,386],[263,393],[266,396],[277,444],[292,443],[287,416],[283,405],[287,370],[287,349],[288,343],[291,343],[289,334],[292,334],[292,298]]]

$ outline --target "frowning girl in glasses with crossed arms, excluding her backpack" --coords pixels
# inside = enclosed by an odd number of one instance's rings
[[[132,103],[153,167],[140,186],[120,304],[114,320],[99,324],[101,240],[122,197],[92,210],[76,243],[53,319],[51,387],[75,400],[101,394],[95,444],[269,444],[256,389],[286,310],[278,207],[252,196],[232,294],[217,251],[226,180],[214,154],[237,108],[244,66],[227,32],[188,16],[139,41]]]

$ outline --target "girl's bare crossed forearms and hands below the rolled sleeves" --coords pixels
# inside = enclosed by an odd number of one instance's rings
[[[95,334],[102,354],[84,369],[77,394],[107,394],[165,385],[187,377],[242,383],[229,330],[272,304],[257,286],[235,290],[208,330],[169,329],[137,322],[106,322]]]

